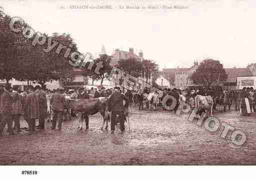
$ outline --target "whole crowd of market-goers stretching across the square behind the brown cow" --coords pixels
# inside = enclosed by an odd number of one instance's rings
[[[56,89],[46,90],[42,89],[39,85],[36,87],[28,86],[26,91],[20,91],[17,86],[11,88],[10,86],[0,87],[0,134],[7,124],[7,132],[10,135],[20,132],[20,117],[27,122],[28,128],[25,129],[32,133],[35,129],[43,130],[44,121],[48,119],[48,122],[52,122],[52,130],[56,129],[56,123],[58,121],[58,129],[61,129],[63,114],[66,106],[65,98],[70,99],[89,99],[98,97],[110,97],[115,91],[114,88],[105,89],[102,87],[100,90],[97,88],[76,88],[76,89]],[[144,109],[145,94],[152,92],[149,88],[144,88],[139,91],[121,90],[127,103],[135,104],[139,110]],[[154,91],[157,93],[157,91]],[[115,94],[114,96],[119,96]],[[242,90],[232,90],[222,87],[213,88],[191,88],[185,90],[179,89],[164,89],[163,95],[160,101],[166,96],[171,95],[176,98],[177,105],[174,111],[177,111],[180,105],[180,96],[186,97],[186,102],[193,108],[195,107],[195,97],[197,95],[212,96],[214,100],[214,108],[216,106],[223,105],[224,111],[231,109],[232,104],[235,104],[235,109],[240,110],[242,115],[250,115],[252,112],[256,112],[256,90],[251,88],[243,88]],[[119,104],[119,103],[118,103]],[[111,105],[111,104],[110,104]],[[117,105],[119,108],[120,105]],[[75,115],[75,113],[73,113]],[[122,116],[119,112],[116,112],[117,116]],[[88,117],[87,117],[88,118]],[[35,120],[39,119],[39,125],[35,126]],[[85,119],[88,120],[88,119]],[[14,122],[14,127],[13,127]],[[123,128],[123,126],[121,127]],[[111,126],[114,130],[114,126]],[[122,130],[122,129],[121,129]]]

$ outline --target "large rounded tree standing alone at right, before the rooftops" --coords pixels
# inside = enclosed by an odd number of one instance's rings
[[[200,63],[191,78],[195,84],[210,87],[214,83],[226,81],[228,75],[220,61],[206,59]]]

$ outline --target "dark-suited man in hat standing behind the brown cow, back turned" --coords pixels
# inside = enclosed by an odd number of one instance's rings
[[[108,111],[112,112],[111,114],[111,134],[115,131],[115,120],[116,116],[119,116],[120,119],[120,130],[124,132],[124,108],[129,105],[129,99],[125,95],[120,93],[120,87],[115,87],[114,92],[108,100]],[[125,100],[125,106],[123,105],[123,100]]]

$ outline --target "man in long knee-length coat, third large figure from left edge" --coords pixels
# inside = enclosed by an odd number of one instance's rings
[[[39,104],[33,86],[29,86],[28,89],[24,103],[24,116],[28,120],[29,132],[35,131],[35,119],[39,118]]]

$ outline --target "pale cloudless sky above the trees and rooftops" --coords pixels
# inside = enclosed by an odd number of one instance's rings
[[[68,9],[70,5],[111,4],[112,9]],[[119,5],[180,4],[187,9],[119,9]],[[256,0],[0,0],[11,16],[33,29],[70,33],[81,53],[109,55],[133,47],[160,69],[191,67],[194,60],[220,60],[225,68],[256,62]],[[60,9],[64,6],[65,9]]]

